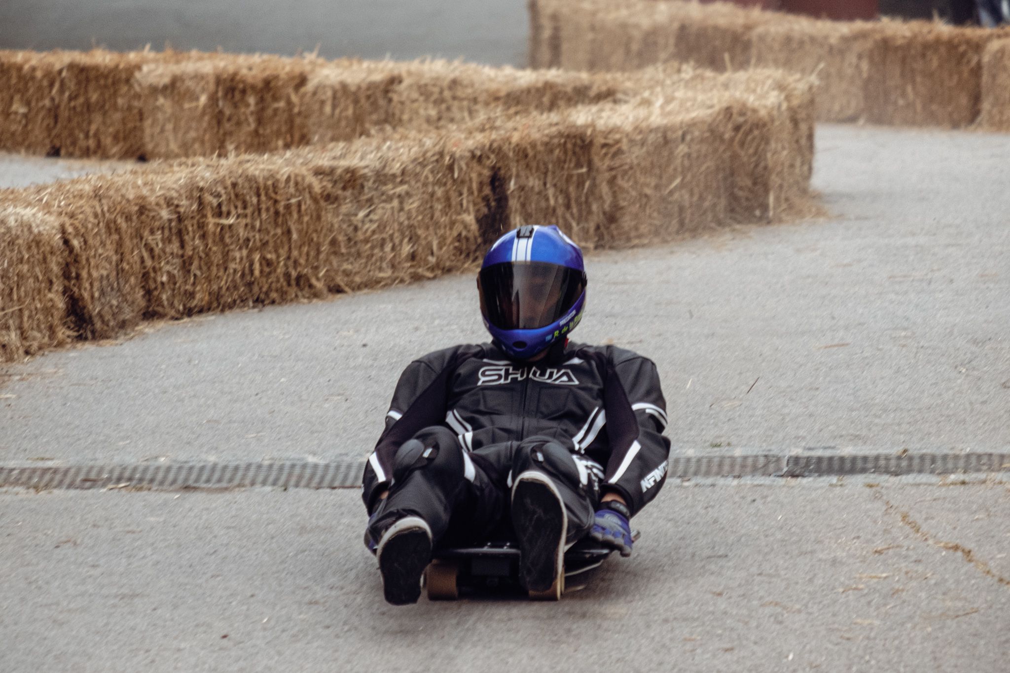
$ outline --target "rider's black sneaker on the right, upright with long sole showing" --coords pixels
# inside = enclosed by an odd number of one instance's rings
[[[512,486],[512,527],[521,552],[519,573],[530,591],[546,591],[564,570],[568,515],[542,472],[520,474]]]

